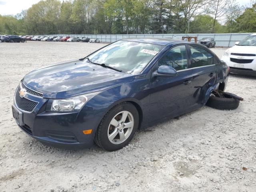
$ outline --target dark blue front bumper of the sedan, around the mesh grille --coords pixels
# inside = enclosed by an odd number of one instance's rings
[[[19,90],[18,87],[16,91]],[[12,105],[14,119],[18,126],[32,138],[46,145],[68,149],[92,146],[99,123],[98,119],[94,118],[95,115],[88,115],[84,112],[46,112],[48,99],[31,94],[26,94],[24,98],[38,102],[38,104],[32,112],[26,112],[18,107],[15,97]],[[87,129],[93,129],[92,133],[83,134],[83,130]]]

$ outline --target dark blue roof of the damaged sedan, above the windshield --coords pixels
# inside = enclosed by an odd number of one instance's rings
[[[176,42],[184,42],[181,40],[175,40],[171,38],[127,38],[122,39],[122,41],[133,41],[133,42],[141,42],[141,43],[150,43],[150,44],[157,44],[157,45],[168,45]]]

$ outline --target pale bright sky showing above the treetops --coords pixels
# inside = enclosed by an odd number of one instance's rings
[[[26,10],[40,0],[0,0],[1,15],[16,15],[22,10]],[[237,0],[240,5],[250,6],[251,0]]]

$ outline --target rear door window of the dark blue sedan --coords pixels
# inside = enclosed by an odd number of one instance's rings
[[[214,56],[208,51],[196,46],[190,46],[190,50],[192,58],[191,68],[213,64]]]

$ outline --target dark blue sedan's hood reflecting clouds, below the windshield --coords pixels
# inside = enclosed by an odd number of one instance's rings
[[[105,90],[134,79],[126,74],[88,63],[72,60],[41,68],[27,74],[23,83],[43,93],[44,98],[68,98]]]

